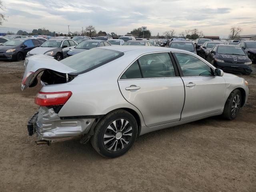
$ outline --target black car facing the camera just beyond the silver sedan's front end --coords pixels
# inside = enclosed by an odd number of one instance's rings
[[[228,73],[249,75],[252,72],[249,66],[252,61],[242,48],[234,45],[215,45],[208,54],[207,61]]]

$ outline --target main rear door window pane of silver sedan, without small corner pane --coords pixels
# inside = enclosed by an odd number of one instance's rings
[[[168,53],[154,53],[138,59],[144,78],[175,77],[172,60]]]

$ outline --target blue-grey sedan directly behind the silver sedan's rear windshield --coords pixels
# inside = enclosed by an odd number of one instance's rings
[[[102,41],[102,40],[87,40],[78,44],[73,49],[70,49],[68,51],[67,56],[69,57],[95,47],[104,47],[104,46],[111,46],[111,44],[107,41]]]

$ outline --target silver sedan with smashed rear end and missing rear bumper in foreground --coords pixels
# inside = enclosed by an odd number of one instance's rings
[[[81,138],[109,158],[148,132],[216,115],[232,120],[249,93],[243,78],[172,48],[107,46],[60,62],[36,55],[25,66],[22,90],[44,71],[39,112],[28,122],[36,143]]]

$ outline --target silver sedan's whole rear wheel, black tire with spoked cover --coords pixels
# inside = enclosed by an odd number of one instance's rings
[[[126,110],[115,110],[98,122],[91,144],[101,156],[115,158],[132,147],[137,133],[138,126],[134,116]]]

